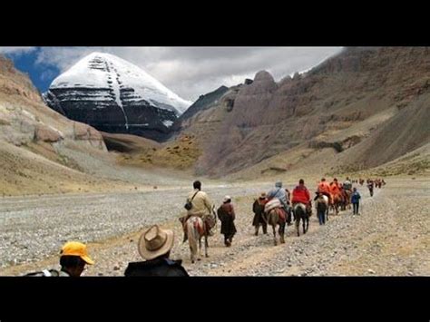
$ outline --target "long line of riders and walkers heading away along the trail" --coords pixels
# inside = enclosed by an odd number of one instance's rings
[[[313,197],[305,186],[303,179],[298,181],[298,186],[292,191],[283,188],[282,182],[277,181],[275,188],[267,193],[262,192],[259,198],[253,202],[254,218],[252,225],[255,227],[255,235],[259,235],[260,226],[263,229],[263,233],[267,233],[269,224],[267,215],[270,210],[276,210],[277,218],[280,221],[284,221],[288,226],[292,225],[293,220],[296,221],[298,226],[300,217],[297,215],[298,213],[305,213],[307,216],[305,219],[308,220],[308,217],[312,214],[312,200],[315,201],[315,209],[317,210],[320,225],[326,223],[329,210],[333,210],[337,214],[339,210],[350,209],[352,204],[354,214],[358,214],[358,203],[361,196],[357,188],[353,188],[353,183],[363,185],[364,182],[361,178],[350,180],[347,177],[344,182],[339,182],[337,178],[334,178],[333,181],[328,183],[325,178],[322,178],[318,182],[315,197]],[[374,188],[381,188],[386,182],[383,179],[367,179],[366,184],[370,195],[373,196]],[[190,192],[187,202],[192,203],[192,207],[187,209],[187,215],[180,219],[184,229],[184,241],[188,239],[191,231],[186,226],[187,221],[192,221],[190,223],[193,227],[200,229],[201,235],[204,234],[206,229],[207,234],[211,236],[213,233],[210,229],[216,224],[216,216],[218,216],[221,221],[220,232],[224,235],[224,244],[230,247],[233,236],[237,231],[234,225],[235,213],[230,196],[226,196],[220,208],[215,211],[207,193],[201,191],[200,181],[195,181],[194,190]],[[283,235],[283,229],[282,227],[282,231],[279,231],[279,234]],[[306,230],[307,228],[305,229],[304,226],[304,233],[306,233]]]

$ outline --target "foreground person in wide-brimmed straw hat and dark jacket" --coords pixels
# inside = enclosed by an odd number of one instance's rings
[[[145,261],[129,263],[124,275],[138,277],[182,277],[189,276],[181,266],[181,260],[171,260],[174,234],[171,229],[161,229],[158,225],[146,230],[139,239],[138,249]]]

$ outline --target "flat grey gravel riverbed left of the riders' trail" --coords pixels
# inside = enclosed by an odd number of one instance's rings
[[[219,203],[225,193],[259,193],[232,185],[205,190]],[[203,186],[204,188],[204,186]],[[58,253],[67,240],[85,243],[122,236],[155,223],[176,220],[190,189],[87,193],[0,200],[0,267]],[[178,221],[179,222],[179,221]]]

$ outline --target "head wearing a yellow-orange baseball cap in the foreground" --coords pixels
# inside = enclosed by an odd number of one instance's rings
[[[93,259],[88,256],[86,246],[78,241],[69,241],[61,249],[60,265],[62,270],[72,277],[80,277],[85,265],[93,265]]]

